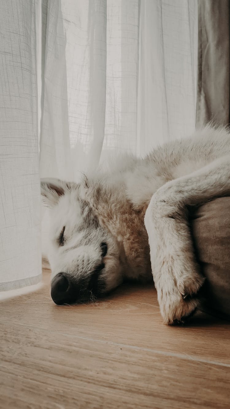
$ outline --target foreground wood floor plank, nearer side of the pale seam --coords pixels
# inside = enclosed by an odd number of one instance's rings
[[[229,407],[230,368],[26,326],[2,331],[1,407]]]

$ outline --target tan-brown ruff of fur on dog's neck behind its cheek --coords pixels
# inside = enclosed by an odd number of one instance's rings
[[[127,196],[125,180],[87,179],[82,190],[100,225],[110,231],[123,250],[127,278],[152,279],[150,251],[144,226],[144,212],[135,209]]]

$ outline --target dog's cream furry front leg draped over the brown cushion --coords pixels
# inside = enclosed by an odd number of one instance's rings
[[[152,196],[145,213],[150,257],[161,315],[183,322],[199,305],[203,284],[194,258],[187,206],[230,194],[230,155],[190,175],[167,182]]]

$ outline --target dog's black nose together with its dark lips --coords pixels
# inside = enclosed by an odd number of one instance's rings
[[[63,305],[88,301],[98,297],[104,288],[104,282],[100,276],[104,267],[104,263],[96,267],[88,281],[81,280],[78,282],[66,272],[56,274],[51,281],[52,300],[58,305]]]

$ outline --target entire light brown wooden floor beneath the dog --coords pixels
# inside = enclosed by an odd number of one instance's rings
[[[45,272],[0,309],[1,408],[230,408],[230,322],[165,326],[151,287],[56,306]]]

